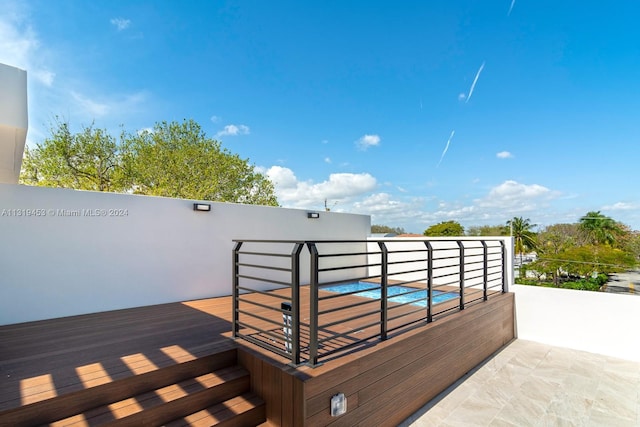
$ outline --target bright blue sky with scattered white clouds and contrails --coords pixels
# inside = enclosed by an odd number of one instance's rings
[[[28,143],[192,118],[282,206],[640,229],[640,3],[7,1]]]

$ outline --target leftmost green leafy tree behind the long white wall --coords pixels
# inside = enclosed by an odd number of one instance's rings
[[[72,133],[56,119],[51,137],[25,150],[20,182],[44,187],[123,191],[120,147],[104,129],[93,125]]]

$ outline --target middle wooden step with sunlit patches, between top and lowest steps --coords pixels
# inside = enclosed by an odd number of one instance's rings
[[[118,402],[91,409],[82,414],[51,423],[68,426],[159,426],[232,399],[249,390],[249,373],[233,366],[180,381],[162,388],[131,395]]]

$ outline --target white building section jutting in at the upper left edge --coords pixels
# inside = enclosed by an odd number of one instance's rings
[[[0,64],[0,183],[18,182],[27,123],[27,72]]]

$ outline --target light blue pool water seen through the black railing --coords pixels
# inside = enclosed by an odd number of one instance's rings
[[[372,288],[376,288],[376,289],[372,289]],[[342,283],[340,285],[327,286],[326,288],[323,287],[321,289],[323,291],[335,292],[340,294],[359,291],[354,295],[365,297],[365,298],[380,299],[380,285],[376,283],[367,283],[367,282]],[[413,305],[418,305],[420,307],[426,307],[427,306],[426,290],[414,292],[409,295],[394,296],[394,295],[403,294],[413,290],[415,290],[415,288],[410,288],[407,286],[390,287],[387,289],[389,301],[399,303],[399,304],[411,303]],[[445,293],[442,291],[433,291],[434,304],[447,301],[453,298],[457,298],[457,297],[458,297],[457,294]]]

